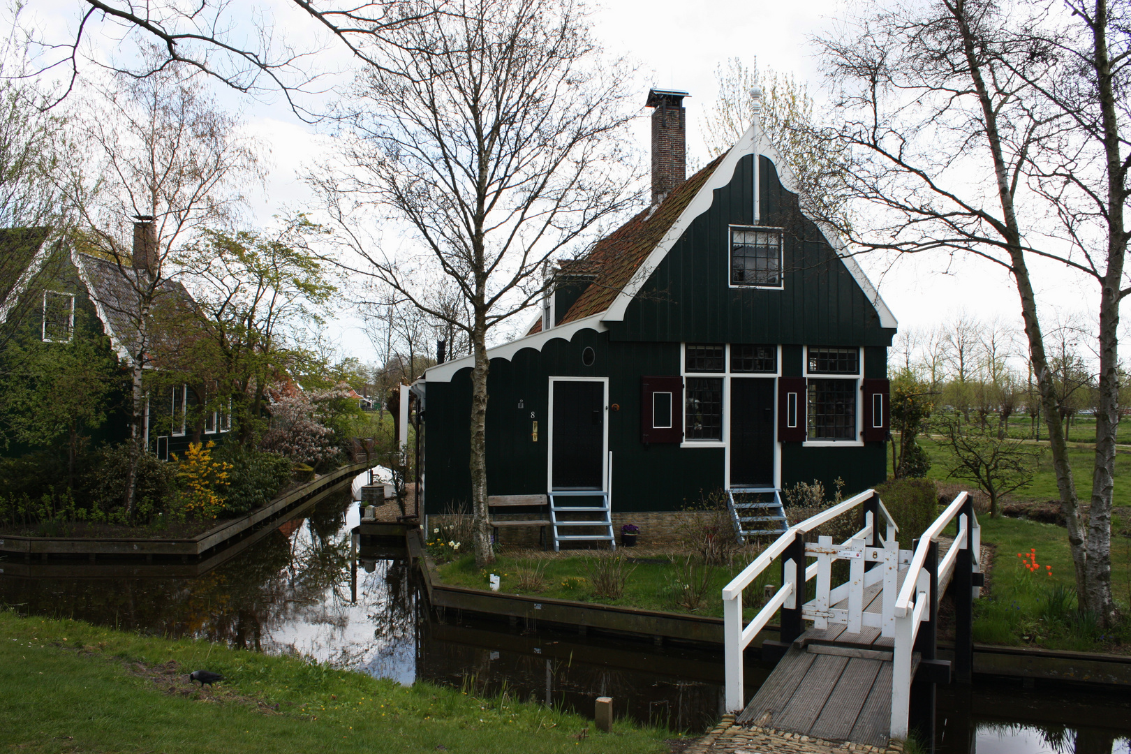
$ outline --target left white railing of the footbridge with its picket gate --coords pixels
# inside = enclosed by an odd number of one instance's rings
[[[864,527],[852,535],[839,546],[832,545],[829,537],[820,537],[813,545],[805,544],[805,535],[839,515],[864,509]],[[886,523],[880,532],[880,518]],[[867,489],[854,495],[838,505],[821,511],[817,515],[795,523],[786,529],[774,543],[763,549],[754,561],[736,575],[723,589],[723,642],[726,667],[726,709],[741,711],[745,704],[742,678],[742,653],[754,636],[780,608],[782,641],[792,642],[802,631],[802,619],[814,621],[817,627],[824,627],[828,619],[838,617],[831,605],[848,597],[848,623],[858,625],[863,612],[862,597],[865,583],[874,582],[882,575],[884,586],[895,590],[896,569],[898,569],[899,544],[896,534],[899,527],[884,508],[874,489]],[[870,546],[869,546],[870,545]],[[883,554],[882,558],[880,554]],[[776,558],[782,557],[782,586],[771,596],[758,615],[742,625],[742,591],[765,571]],[[817,562],[806,566],[808,557],[817,557]],[[875,577],[864,574],[869,558],[882,562],[888,566]],[[851,560],[849,581],[834,589],[831,587],[831,563],[835,560]],[[874,570],[874,569],[873,569]],[[872,571],[869,571],[871,573]],[[812,606],[805,606],[805,583],[817,578],[817,599]],[[889,583],[890,582],[890,583]],[[800,599],[798,599],[800,597]],[[889,600],[890,604],[890,600]],[[893,626],[887,626],[884,634],[891,635]]]

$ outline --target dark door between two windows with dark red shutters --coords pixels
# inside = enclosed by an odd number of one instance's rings
[[[774,380],[731,378],[731,486],[774,485]]]

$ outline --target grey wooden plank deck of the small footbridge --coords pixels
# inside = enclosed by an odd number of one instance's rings
[[[906,567],[898,572],[901,587]],[[949,579],[947,580],[949,581]],[[947,582],[939,583],[939,593]],[[898,591],[898,587],[897,587]],[[864,590],[864,612],[883,613],[883,584]],[[834,608],[847,609],[848,600]],[[824,740],[849,740],[884,748],[891,728],[891,664],[895,641],[864,626],[810,629],[789,647],[777,667],[735,720]],[[912,655],[912,676],[920,655]]]

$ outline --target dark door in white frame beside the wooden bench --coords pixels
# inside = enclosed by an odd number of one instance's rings
[[[603,489],[605,384],[553,382],[554,428],[551,479],[554,489]]]

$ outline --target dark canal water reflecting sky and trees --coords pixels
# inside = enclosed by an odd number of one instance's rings
[[[717,721],[722,652],[438,614],[403,547],[365,544],[354,558],[357,523],[357,505],[342,495],[204,572],[101,562],[8,567],[0,605],[297,653],[404,684],[506,691],[584,714],[597,696],[612,696],[618,714],[673,730],[701,733]],[[749,666],[748,693],[769,674]],[[1128,696],[1012,682],[940,687],[935,752],[1131,754]]]

